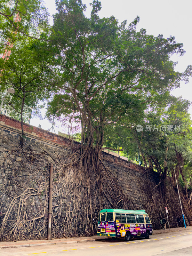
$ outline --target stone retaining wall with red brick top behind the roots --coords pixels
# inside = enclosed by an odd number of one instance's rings
[[[79,149],[80,143],[28,124],[24,124],[24,132],[26,138],[24,146],[21,147],[20,122],[0,115],[0,239],[12,240],[17,234],[20,240],[46,237],[50,162],[53,163],[52,236],[90,235],[86,223],[93,219],[92,226],[96,230],[99,209],[95,213],[96,217],[87,217],[89,219],[84,225],[79,223],[78,214],[84,211],[84,206],[79,206],[76,216],[73,214],[73,207],[81,202],[83,193],[87,193],[86,188],[82,186],[82,191],[73,197],[75,199],[70,199],[72,196],[69,188],[75,186],[73,180],[70,180],[74,171],[71,170],[67,178],[59,171],[61,160]],[[173,209],[174,203],[170,200],[164,205],[159,194],[153,198],[151,191],[158,184],[156,172],[105,152],[102,152],[102,161],[116,177],[113,182],[117,182],[122,193],[130,198],[132,209],[146,209],[151,215],[154,228],[160,228],[159,216],[165,214],[164,206],[169,204]],[[64,184],[66,179],[70,183],[68,187]],[[108,184],[113,186],[111,182]],[[99,191],[91,193],[93,195]],[[173,195],[175,191],[169,187],[168,193]],[[107,199],[103,198],[103,201],[107,202]],[[175,203],[179,205],[179,202]],[[162,207],[156,209],[157,204]],[[64,205],[68,208],[69,216],[66,216]],[[106,203],[106,206],[112,207],[109,203]],[[97,208],[97,205],[95,207]],[[175,209],[180,214],[180,209]],[[86,213],[84,214],[86,216]],[[70,223],[65,227],[66,218]],[[171,227],[176,226],[174,214],[170,216],[170,224]],[[68,227],[70,226],[70,230],[73,231],[77,230],[77,225],[78,232],[69,234]]]

